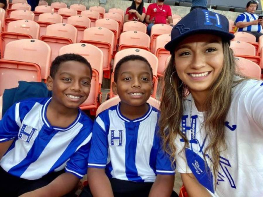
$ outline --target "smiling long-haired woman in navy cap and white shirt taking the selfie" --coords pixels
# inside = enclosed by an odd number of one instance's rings
[[[197,8],[165,46],[160,130],[190,197],[263,193],[263,81],[235,72],[228,28]]]

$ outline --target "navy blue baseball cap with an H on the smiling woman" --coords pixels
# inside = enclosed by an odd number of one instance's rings
[[[173,27],[171,41],[164,48],[172,53],[183,39],[192,34],[217,35],[229,44],[230,40],[235,37],[229,32],[229,22],[224,15],[197,8],[179,20]]]

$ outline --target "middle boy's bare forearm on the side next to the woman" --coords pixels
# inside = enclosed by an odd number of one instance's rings
[[[170,197],[173,191],[174,175],[157,175],[149,197]]]

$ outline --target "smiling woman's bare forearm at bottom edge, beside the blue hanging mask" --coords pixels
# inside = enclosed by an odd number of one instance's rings
[[[188,197],[211,197],[207,189],[197,181],[192,173],[181,173],[181,178]]]

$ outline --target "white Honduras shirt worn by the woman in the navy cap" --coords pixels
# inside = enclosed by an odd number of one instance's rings
[[[192,137],[191,130],[195,130],[195,138],[199,144],[192,143],[192,149],[202,155],[202,151],[204,151],[209,141],[204,140],[204,129],[200,128],[201,123],[204,121],[203,112],[197,111],[194,102],[192,102],[192,95],[189,95],[184,103],[185,112],[182,118],[182,130],[185,131],[188,139]],[[193,118],[189,120],[188,116],[190,116],[191,108]],[[220,154],[219,175],[215,193],[210,193],[216,197],[262,197],[263,81],[251,79],[240,83],[234,88],[225,125],[227,149]],[[186,166],[184,151],[179,154],[184,145],[180,138],[177,136],[175,140],[178,149],[176,168],[178,172],[191,173],[190,168]],[[212,163],[208,158],[207,162],[212,170]]]

